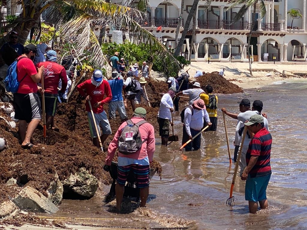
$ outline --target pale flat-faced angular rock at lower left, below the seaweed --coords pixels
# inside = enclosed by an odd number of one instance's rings
[[[13,199],[17,207],[34,213],[56,213],[59,209],[36,189],[26,186]]]

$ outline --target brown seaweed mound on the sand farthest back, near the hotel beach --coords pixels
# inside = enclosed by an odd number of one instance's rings
[[[234,94],[243,93],[243,90],[219,75],[219,72],[206,73],[197,78],[201,88],[204,90],[207,85],[213,87],[213,92],[216,94]]]

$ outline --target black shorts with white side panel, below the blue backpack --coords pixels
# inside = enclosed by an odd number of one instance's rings
[[[26,121],[41,120],[41,102],[37,93],[14,94],[15,119]]]

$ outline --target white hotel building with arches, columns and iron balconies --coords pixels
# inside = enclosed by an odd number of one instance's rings
[[[122,0],[112,3],[121,4]],[[228,9],[228,0],[213,0],[210,6],[206,0],[200,0],[196,12],[196,34],[192,44],[192,61],[247,61],[247,38],[250,33],[253,9],[251,8],[240,21],[233,21],[239,7]],[[183,25],[193,0],[185,0]],[[256,9],[256,22],[252,32],[254,61],[305,61],[306,60],[306,0],[264,0],[266,15],[262,19]],[[147,9],[148,20],[143,27],[151,31],[168,47],[174,48],[174,39],[181,0],[150,0]],[[287,11],[296,9],[302,18],[293,20]],[[192,20],[185,39],[182,53],[188,55],[191,45]],[[162,30],[157,32],[157,27]],[[179,38],[183,27],[180,29]],[[108,36],[111,36],[111,31]]]

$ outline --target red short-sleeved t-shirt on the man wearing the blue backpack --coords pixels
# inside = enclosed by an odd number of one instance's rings
[[[31,75],[37,74],[37,70],[34,66],[34,63],[29,58],[18,58],[17,62],[17,80],[20,82],[17,93],[20,94],[30,94],[37,92],[37,84],[32,80]],[[19,60],[20,59],[20,60]]]

